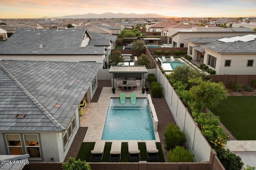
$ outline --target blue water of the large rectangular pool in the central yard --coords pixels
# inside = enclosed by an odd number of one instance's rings
[[[111,98],[102,140],[155,140],[146,98],[130,98],[120,104],[120,98]]]

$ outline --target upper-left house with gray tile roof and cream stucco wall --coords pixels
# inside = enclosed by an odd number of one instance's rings
[[[91,41],[91,42],[90,42]],[[84,29],[18,29],[0,46],[1,59],[36,61],[107,61],[105,44],[94,45]],[[110,38],[102,38],[109,42]],[[94,41],[95,42],[95,41]],[[97,39],[97,42],[99,40]]]

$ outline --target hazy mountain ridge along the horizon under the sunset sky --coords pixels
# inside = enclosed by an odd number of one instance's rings
[[[50,17],[50,18],[170,18],[170,16],[162,16],[158,14],[114,14],[112,12],[106,12],[103,14],[82,14],[82,15],[68,15],[61,17]]]

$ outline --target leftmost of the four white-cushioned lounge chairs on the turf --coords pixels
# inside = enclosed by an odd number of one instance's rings
[[[104,141],[97,141],[94,144],[93,150],[91,150],[93,161],[100,161],[102,160],[104,154],[105,142]]]

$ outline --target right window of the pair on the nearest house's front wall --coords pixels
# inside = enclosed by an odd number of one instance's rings
[[[23,134],[26,153],[32,159],[41,159],[40,145],[37,134]]]

